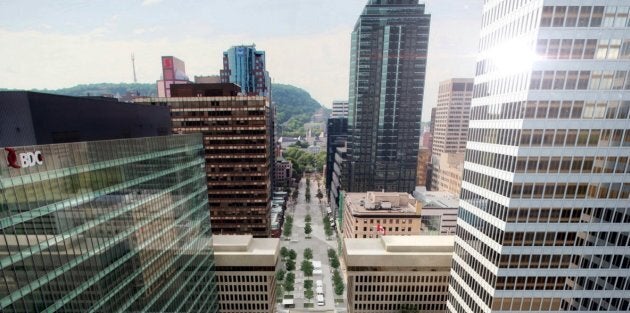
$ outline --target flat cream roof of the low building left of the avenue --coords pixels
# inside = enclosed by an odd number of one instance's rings
[[[213,235],[212,246],[217,266],[275,266],[280,253],[280,239],[252,235]]]

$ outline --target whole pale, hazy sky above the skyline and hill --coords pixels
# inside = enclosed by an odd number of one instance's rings
[[[439,82],[472,77],[482,0],[420,0],[431,14],[422,120]],[[324,106],[348,98],[350,34],[366,0],[0,0],[0,88],[160,79],[160,56],[218,75],[229,47],[256,44],[274,83]]]

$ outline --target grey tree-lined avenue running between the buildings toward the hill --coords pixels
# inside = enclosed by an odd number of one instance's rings
[[[306,179],[311,176],[306,176],[299,183],[299,196],[298,200],[294,205],[289,204],[286,210],[287,215],[293,215],[293,232],[291,234],[291,240],[287,241],[282,238],[281,246],[287,247],[287,249],[293,249],[297,252],[296,259],[296,270],[295,273],[295,290],[292,292],[294,295],[295,309],[290,309],[291,311],[304,310],[304,311],[336,311],[336,312],[345,312],[346,306],[345,302],[340,304],[335,304],[335,295],[334,288],[332,284],[332,271],[329,266],[328,261],[328,249],[332,248],[337,250],[337,241],[336,234],[331,238],[332,240],[326,240],[326,235],[324,232],[324,223],[323,218],[326,215],[326,201],[325,198],[322,199],[322,204],[320,205],[320,200],[316,197],[317,195],[317,182],[315,180],[315,175],[311,178],[311,201],[309,203],[306,202],[304,195],[306,191]],[[324,186],[320,183],[322,189]],[[311,227],[313,229],[310,234],[310,238],[306,238],[304,234],[304,218],[306,215],[310,214],[311,216]],[[304,260],[304,249],[311,248],[313,250],[313,261],[321,261],[322,262],[322,275],[315,275],[313,277],[307,277],[307,279],[312,279],[313,284],[315,284],[316,280],[322,280],[324,283],[324,297],[325,297],[325,305],[318,306],[315,297],[310,300],[311,303],[314,303],[312,308],[304,308],[304,303],[309,302],[308,299],[304,298],[304,273],[300,271],[300,264],[302,260]],[[341,256],[340,256],[341,258]],[[340,271],[341,273],[341,271]],[[313,287],[313,290],[315,288]],[[345,289],[343,298],[345,299]],[[281,304],[278,304],[278,312],[289,312],[289,309],[282,308]]]

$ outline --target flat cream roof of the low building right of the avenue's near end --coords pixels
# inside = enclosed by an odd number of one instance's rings
[[[450,266],[455,236],[383,236],[345,238],[348,266]]]

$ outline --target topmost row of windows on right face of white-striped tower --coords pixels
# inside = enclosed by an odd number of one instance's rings
[[[544,6],[541,27],[630,27],[628,6]]]

